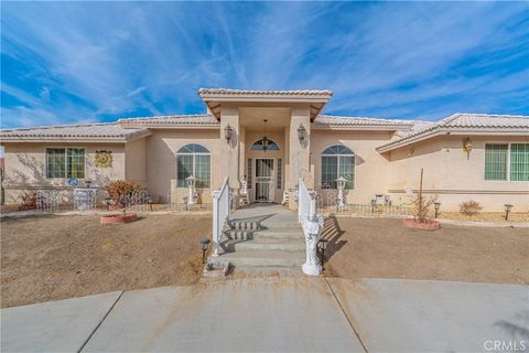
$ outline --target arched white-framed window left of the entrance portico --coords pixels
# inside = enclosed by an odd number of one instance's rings
[[[196,188],[209,188],[212,180],[212,153],[204,146],[190,143],[176,152],[176,186],[187,188],[188,176],[196,178]]]

